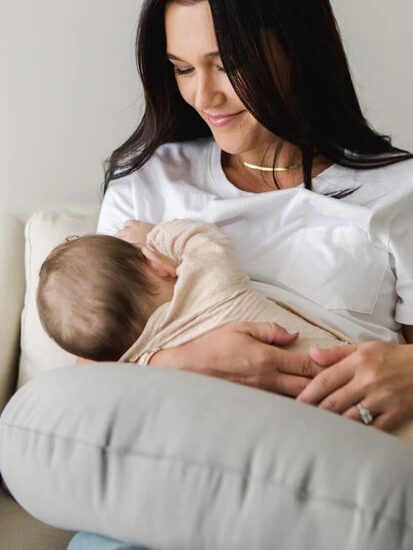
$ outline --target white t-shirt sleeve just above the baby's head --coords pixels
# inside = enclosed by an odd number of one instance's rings
[[[113,180],[103,198],[97,233],[115,235],[125,221],[135,218],[131,180],[128,177]]]

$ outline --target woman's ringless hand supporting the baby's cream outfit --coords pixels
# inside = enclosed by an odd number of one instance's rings
[[[306,355],[276,347],[297,337],[275,323],[231,323],[159,351],[149,363],[296,397],[323,370]]]

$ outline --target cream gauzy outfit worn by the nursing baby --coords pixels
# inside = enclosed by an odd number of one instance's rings
[[[238,265],[230,239],[214,225],[188,220],[158,224],[148,248],[179,263],[173,298],[150,316],[120,361],[147,364],[157,351],[179,346],[235,321],[276,322],[300,336],[288,349],[337,346],[348,339],[255,290]]]

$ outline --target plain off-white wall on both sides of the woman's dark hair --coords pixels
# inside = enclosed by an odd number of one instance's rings
[[[413,150],[412,0],[332,0],[368,118]],[[96,202],[137,123],[141,0],[0,0],[0,209]]]

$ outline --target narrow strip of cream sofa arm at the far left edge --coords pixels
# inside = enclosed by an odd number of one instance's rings
[[[24,296],[24,227],[0,214],[0,413],[16,384]]]

